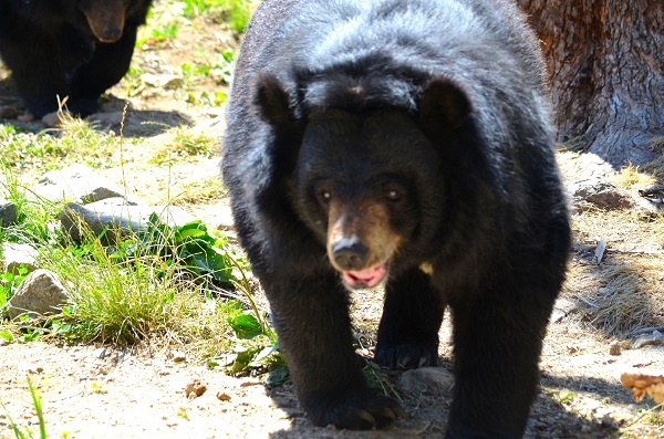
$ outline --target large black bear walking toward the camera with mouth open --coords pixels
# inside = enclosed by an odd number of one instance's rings
[[[369,388],[347,290],[384,283],[375,362],[436,365],[448,438],[519,438],[570,247],[538,40],[509,0],[266,0],[222,158],[237,232],[317,426],[403,416]]]

